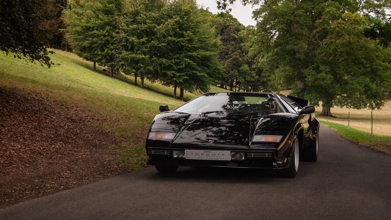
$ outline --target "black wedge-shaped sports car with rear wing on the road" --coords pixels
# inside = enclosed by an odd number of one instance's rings
[[[274,169],[296,176],[316,161],[319,120],[306,99],[275,93],[210,92],[170,111],[160,105],[145,148],[159,172],[178,166]]]

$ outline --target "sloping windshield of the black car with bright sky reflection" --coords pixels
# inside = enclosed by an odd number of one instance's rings
[[[204,116],[253,113],[268,115],[286,112],[281,102],[272,94],[246,92],[206,93],[173,111]]]

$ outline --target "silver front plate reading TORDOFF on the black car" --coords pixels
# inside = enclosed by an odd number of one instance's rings
[[[185,150],[184,154],[190,160],[231,160],[230,151]]]

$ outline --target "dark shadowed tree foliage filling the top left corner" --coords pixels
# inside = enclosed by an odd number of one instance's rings
[[[3,0],[0,3],[0,50],[12,53],[15,58],[25,59],[42,66],[51,67],[54,63],[46,48],[47,41],[43,29],[37,28],[42,10],[38,0]]]

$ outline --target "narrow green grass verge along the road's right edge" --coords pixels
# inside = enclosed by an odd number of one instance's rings
[[[368,147],[377,151],[391,155],[391,137],[382,135],[371,135],[370,133],[363,132],[345,125],[324,122],[322,124],[335,130],[338,134],[355,142],[363,147]]]

